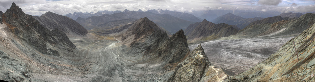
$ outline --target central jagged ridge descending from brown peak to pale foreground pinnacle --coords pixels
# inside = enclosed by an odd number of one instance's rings
[[[133,27],[134,25],[136,26]],[[139,19],[134,25],[124,34],[126,37],[135,37],[129,39],[132,41],[127,50],[130,49],[131,54],[140,55],[138,63],[161,63],[157,69],[162,70],[158,73],[169,78],[163,81],[219,81],[227,77],[222,69],[215,68],[209,62],[201,45],[190,52],[183,30],[168,37],[166,32],[161,32],[147,18]],[[141,31],[146,33],[137,34]]]

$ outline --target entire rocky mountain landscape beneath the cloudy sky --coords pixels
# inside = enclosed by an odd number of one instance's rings
[[[230,12],[209,10],[214,11],[218,11],[215,15]],[[235,11],[241,12],[247,11]],[[312,13],[267,18],[228,13],[215,19],[235,25],[207,19],[198,22],[199,18],[190,14],[162,9],[98,14],[102,15],[76,20],[52,12],[38,17],[25,14],[12,3],[5,13],[0,11],[0,79],[315,81]],[[238,24],[246,27],[239,29]]]

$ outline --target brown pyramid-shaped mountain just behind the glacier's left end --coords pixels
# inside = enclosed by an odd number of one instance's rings
[[[227,37],[235,35],[238,32],[238,28],[228,24],[214,24],[206,19],[201,23],[195,23],[189,25],[185,30],[188,42],[199,41],[199,40],[213,40],[220,37]]]

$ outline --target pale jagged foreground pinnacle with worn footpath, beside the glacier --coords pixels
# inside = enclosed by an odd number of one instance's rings
[[[220,68],[215,68],[209,62],[201,45],[198,45],[190,55],[176,66],[170,82],[222,81],[227,75]]]

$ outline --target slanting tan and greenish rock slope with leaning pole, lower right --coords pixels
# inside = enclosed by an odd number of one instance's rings
[[[295,45],[294,45],[295,44]],[[295,51],[296,50],[296,51]],[[315,24],[254,68],[226,81],[315,81]]]

